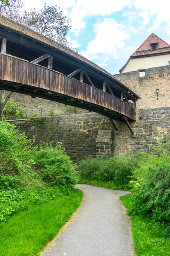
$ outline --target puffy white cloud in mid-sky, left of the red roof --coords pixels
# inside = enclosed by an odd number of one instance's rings
[[[129,35],[125,26],[117,23],[114,19],[105,18],[94,25],[96,37],[88,43],[87,50],[84,52],[86,58],[94,59],[102,55],[107,57],[119,58],[119,48],[124,47],[125,40]],[[105,61],[104,61],[105,62]],[[102,61],[102,63],[104,63]]]

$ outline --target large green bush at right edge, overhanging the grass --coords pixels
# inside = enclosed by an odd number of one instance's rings
[[[136,172],[135,172],[136,174]],[[170,163],[147,167],[134,182],[129,214],[150,215],[156,224],[170,221]]]

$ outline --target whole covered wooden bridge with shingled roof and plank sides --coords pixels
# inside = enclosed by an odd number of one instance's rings
[[[113,125],[136,120],[140,97],[82,55],[2,16],[0,38],[1,90],[94,111]]]

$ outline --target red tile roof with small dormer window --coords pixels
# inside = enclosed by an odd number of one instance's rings
[[[158,52],[161,52],[161,50],[159,50],[159,48],[165,48],[165,47],[170,47],[170,44],[167,44],[164,40],[162,40],[161,38],[159,38],[157,35],[155,34],[151,34],[144,42],[143,44],[141,44],[141,46],[139,46],[139,48],[133,52],[133,54],[131,56],[136,56],[136,55],[142,55],[142,54],[151,54],[151,53],[156,53],[156,52],[151,52],[151,46],[150,44],[154,44],[154,43],[158,43],[157,45],[157,49]],[[143,53],[142,53],[143,52]],[[130,56],[130,57],[131,57]]]

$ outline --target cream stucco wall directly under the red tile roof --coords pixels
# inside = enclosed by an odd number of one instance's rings
[[[169,65],[170,54],[154,55],[130,59],[122,73],[147,69],[151,67],[162,67]]]

